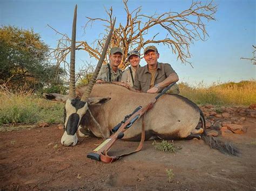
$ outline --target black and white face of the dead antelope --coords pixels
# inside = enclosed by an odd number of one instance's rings
[[[77,128],[87,111],[87,102],[79,99],[68,99],[64,109],[64,134],[61,143],[64,146],[77,144]]]

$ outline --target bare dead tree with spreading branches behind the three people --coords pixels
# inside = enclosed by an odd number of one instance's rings
[[[110,44],[110,48],[113,46],[123,48],[124,56],[122,63],[119,65],[121,69],[124,69],[129,64],[126,58],[131,49],[140,50],[148,44],[165,45],[173,54],[177,55],[177,59],[181,62],[190,63],[188,61],[191,57],[190,45],[197,40],[206,40],[208,37],[206,22],[215,20],[214,15],[217,11],[217,6],[212,1],[205,4],[192,2],[188,9],[180,13],[170,11],[147,16],[141,13],[141,6],[130,11],[127,2],[127,0],[123,0],[126,23],[117,25],[118,27],[114,29]],[[105,32],[99,36],[100,38],[96,39],[91,45],[87,41],[76,42],[76,49],[86,51],[92,58],[97,60],[100,58],[100,53],[113,20],[112,8],[105,9],[105,12],[109,17],[108,19],[86,17],[88,20],[84,26],[86,31],[88,26],[92,26],[94,22],[103,22],[103,26],[106,28]],[[160,32],[149,37],[153,27],[158,27]],[[56,32],[59,33],[58,31]],[[164,33],[165,38],[160,38],[160,33],[161,35]],[[59,39],[57,47],[52,51],[57,63],[67,63],[66,56],[70,52],[70,44],[71,39],[66,34],[62,34],[62,39]]]

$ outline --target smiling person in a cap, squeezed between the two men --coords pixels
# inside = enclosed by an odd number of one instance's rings
[[[128,53],[128,61],[130,62],[131,66],[129,66],[127,69],[124,70],[121,82],[127,83],[130,87],[133,86],[134,83],[134,77],[136,74],[136,70],[140,67],[140,53],[136,50],[130,51]]]

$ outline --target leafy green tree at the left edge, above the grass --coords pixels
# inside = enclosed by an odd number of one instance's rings
[[[63,70],[48,61],[49,48],[33,30],[0,28],[0,84],[11,89],[38,89],[61,82]],[[57,79],[57,80],[53,80]]]

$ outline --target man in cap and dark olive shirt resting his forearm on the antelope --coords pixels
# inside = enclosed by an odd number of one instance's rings
[[[133,88],[144,93],[158,93],[166,86],[179,80],[178,75],[169,63],[161,63],[159,53],[155,46],[147,46],[144,49],[144,59],[147,65],[138,68]],[[179,94],[179,88],[175,84],[170,90],[171,94]]]

